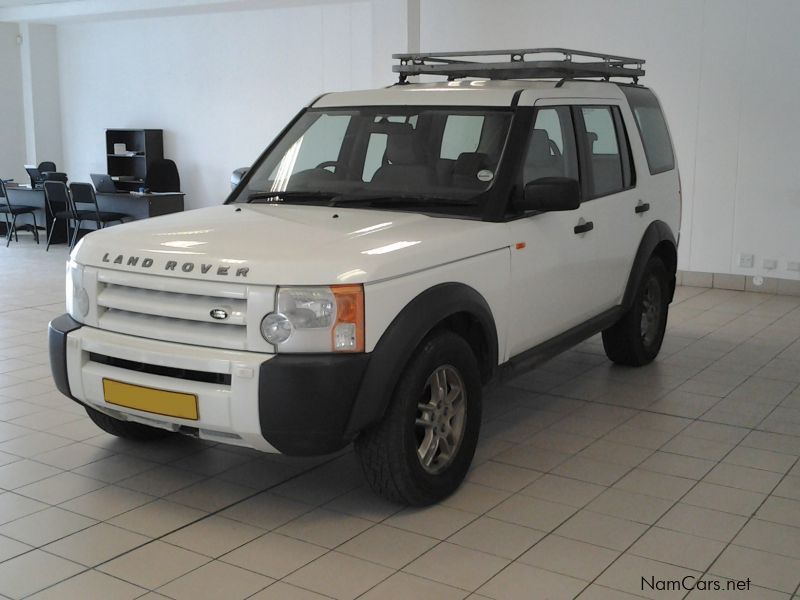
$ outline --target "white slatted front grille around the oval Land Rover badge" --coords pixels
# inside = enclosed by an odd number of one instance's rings
[[[247,350],[247,286],[103,270],[101,329],[195,346]],[[222,290],[222,291],[221,291]],[[212,311],[228,316],[214,319]]]

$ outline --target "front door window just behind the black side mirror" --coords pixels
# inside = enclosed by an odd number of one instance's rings
[[[542,177],[578,179],[575,131],[568,106],[548,106],[536,111],[522,175],[523,183]]]

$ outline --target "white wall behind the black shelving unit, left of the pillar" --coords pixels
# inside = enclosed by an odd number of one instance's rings
[[[106,172],[106,128],[164,130],[187,208],[220,203],[324,91],[371,85],[366,2],[58,26],[66,170]]]

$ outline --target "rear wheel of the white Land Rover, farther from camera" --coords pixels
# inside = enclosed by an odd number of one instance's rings
[[[633,306],[603,331],[606,356],[618,365],[641,367],[661,350],[669,312],[669,276],[664,262],[651,256],[633,297]]]

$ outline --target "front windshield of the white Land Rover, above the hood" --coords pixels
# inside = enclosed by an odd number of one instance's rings
[[[477,206],[494,180],[510,121],[508,110],[311,109],[234,201]]]

